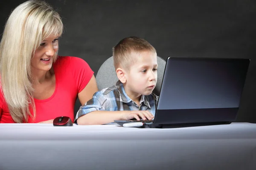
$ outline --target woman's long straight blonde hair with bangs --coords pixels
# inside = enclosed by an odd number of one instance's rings
[[[15,122],[27,122],[29,116],[35,119],[31,58],[42,40],[59,37],[62,31],[61,17],[44,1],[26,1],[9,16],[0,42],[0,83]]]

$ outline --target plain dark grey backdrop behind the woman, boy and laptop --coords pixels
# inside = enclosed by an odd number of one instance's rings
[[[10,11],[24,0],[0,1],[0,32]],[[255,0],[47,0],[65,31],[60,55],[81,57],[95,72],[111,48],[128,36],[145,38],[163,59],[251,59],[238,122],[256,123]],[[11,50],[11,49],[10,49]],[[79,109],[76,103],[75,112]]]

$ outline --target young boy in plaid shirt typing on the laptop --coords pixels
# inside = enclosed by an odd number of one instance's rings
[[[93,95],[76,114],[78,125],[102,125],[114,120],[153,119],[158,96],[157,53],[146,40],[127,37],[113,47],[119,81]]]

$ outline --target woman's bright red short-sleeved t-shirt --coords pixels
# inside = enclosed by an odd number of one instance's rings
[[[53,69],[56,79],[55,91],[48,99],[34,99],[35,121],[29,117],[28,123],[55,119],[58,116],[69,116],[74,122],[77,95],[88,84],[93,76],[93,71],[83,59],[70,56],[58,57],[53,63]],[[32,109],[30,110],[32,113]],[[15,123],[2,93],[0,93],[0,123]]]

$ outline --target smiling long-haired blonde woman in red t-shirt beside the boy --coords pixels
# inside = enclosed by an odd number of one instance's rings
[[[43,1],[12,11],[0,42],[0,123],[74,121],[76,97],[84,105],[98,91],[83,59],[58,56],[62,30],[59,14]]]

